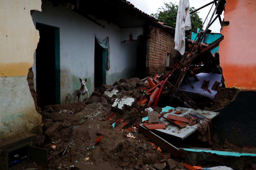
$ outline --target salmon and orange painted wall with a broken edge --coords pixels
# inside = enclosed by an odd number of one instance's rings
[[[256,0],[226,0],[219,46],[225,85],[256,90]]]

